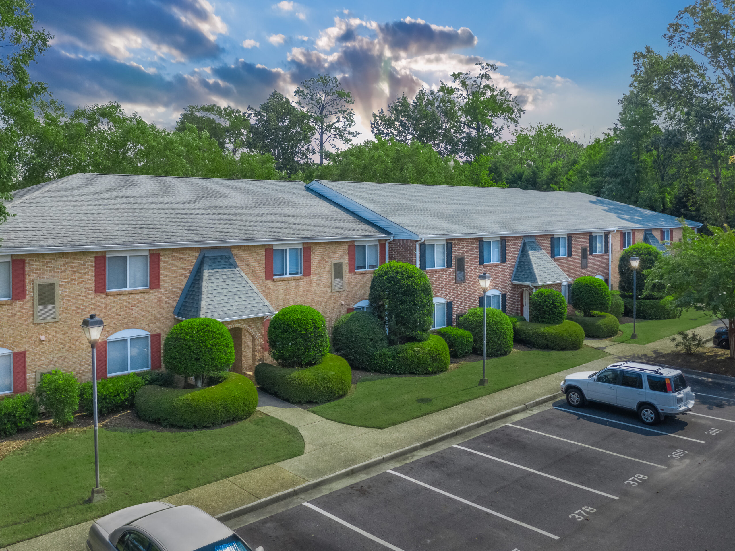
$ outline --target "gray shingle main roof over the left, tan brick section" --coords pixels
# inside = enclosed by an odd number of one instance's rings
[[[8,209],[17,216],[0,225],[0,251],[7,253],[387,234],[301,181],[75,174],[14,192]]]

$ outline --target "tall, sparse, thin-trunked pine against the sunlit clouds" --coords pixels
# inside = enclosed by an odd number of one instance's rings
[[[312,117],[312,125],[316,130],[316,151],[319,153],[319,164],[324,164],[327,148],[337,150],[340,144],[349,144],[357,132],[352,94],[343,90],[340,79],[329,75],[317,75],[306,80],[296,88],[293,95],[296,104]]]

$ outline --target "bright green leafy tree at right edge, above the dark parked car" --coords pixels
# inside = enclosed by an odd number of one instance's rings
[[[672,306],[711,311],[727,320],[730,359],[735,359],[735,231],[716,226],[709,231],[698,234],[684,226],[684,238],[671,244],[672,253],[645,274],[646,290],[663,284]]]

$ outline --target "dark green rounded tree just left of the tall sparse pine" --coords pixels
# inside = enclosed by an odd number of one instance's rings
[[[249,147],[276,159],[276,170],[292,175],[314,154],[315,129],[311,115],[295,107],[282,93],[273,90],[258,109],[248,107],[251,119]]]

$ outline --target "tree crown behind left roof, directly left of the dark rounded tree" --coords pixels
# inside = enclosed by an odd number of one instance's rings
[[[220,107],[217,104],[188,105],[176,121],[176,130],[185,132],[193,124],[199,132],[207,132],[217,140],[223,151],[232,151],[237,156],[245,149],[250,120],[248,115],[235,107]]]

